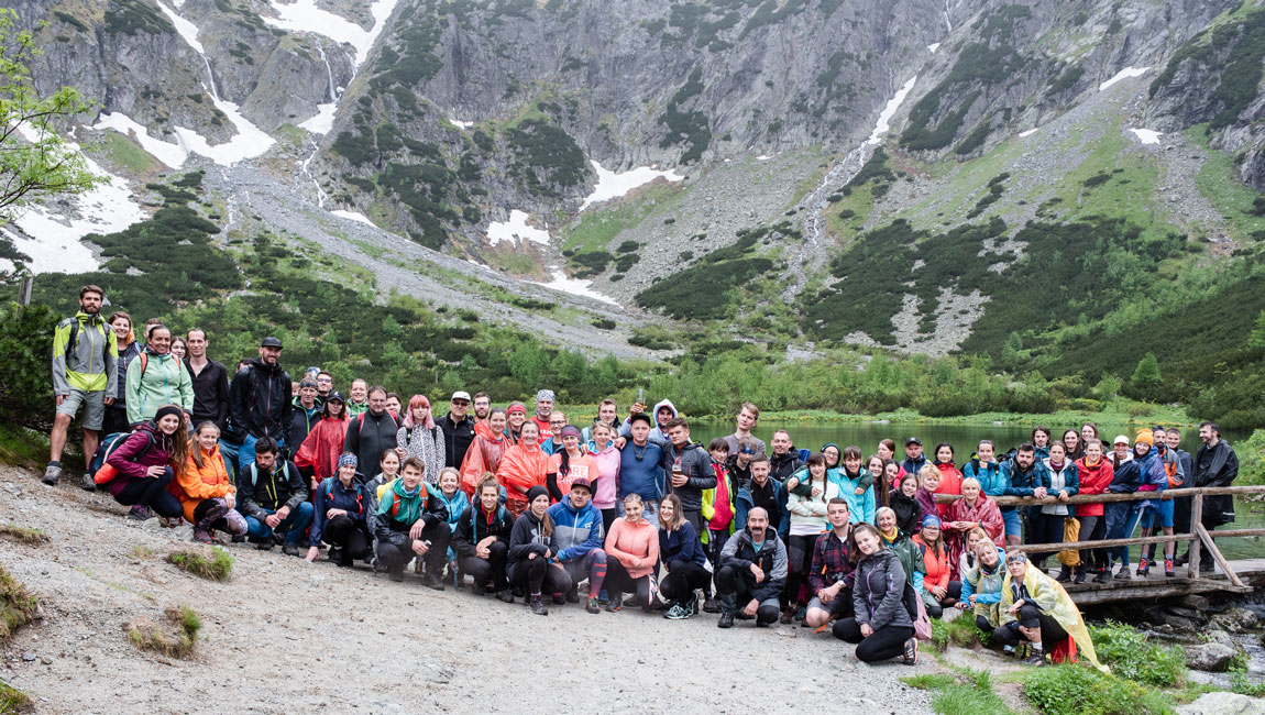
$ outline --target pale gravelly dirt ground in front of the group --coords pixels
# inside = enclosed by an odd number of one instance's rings
[[[37,712],[930,712],[901,676],[796,625],[668,621],[578,605],[535,616],[468,590],[424,588],[367,568],[306,563],[233,545],[214,583],[163,558],[187,528],[124,520],[108,494],[0,467],[0,523],[52,540],[0,539],[0,564],[42,599],[44,618],[3,648],[0,677]],[[152,557],[135,556],[147,547]],[[191,659],[143,653],[138,619],[191,606],[204,621]],[[927,658],[930,661],[930,658]]]

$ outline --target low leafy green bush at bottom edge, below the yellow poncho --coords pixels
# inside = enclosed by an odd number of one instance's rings
[[[1023,696],[1046,715],[1160,715],[1173,711],[1163,691],[1065,663],[1023,673]]]

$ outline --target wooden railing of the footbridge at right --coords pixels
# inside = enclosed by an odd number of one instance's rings
[[[1101,549],[1101,548],[1118,548],[1130,547],[1133,544],[1165,544],[1169,542],[1190,542],[1189,549],[1189,567],[1187,578],[1194,580],[1199,577],[1199,559],[1202,557],[1200,550],[1208,549],[1208,554],[1212,556],[1217,566],[1226,572],[1226,577],[1230,582],[1238,588],[1247,588],[1238,575],[1230,568],[1230,562],[1226,557],[1221,556],[1221,550],[1213,542],[1214,537],[1228,538],[1228,537],[1265,537],[1265,529],[1227,529],[1223,532],[1209,533],[1203,526],[1203,497],[1204,496],[1219,496],[1219,495],[1235,495],[1243,496],[1250,494],[1265,494],[1265,486],[1241,486],[1241,487],[1183,487],[1183,488],[1170,488],[1164,491],[1140,491],[1131,494],[1093,494],[1093,495],[1075,495],[1068,497],[1066,501],[1060,501],[1056,497],[1047,496],[1045,499],[1036,499],[1032,496],[989,496],[997,502],[998,506],[1039,506],[1039,505],[1077,505],[1077,504],[1112,504],[1121,501],[1149,501],[1149,500],[1173,500],[1182,497],[1190,497],[1190,526],[1192,532],[1189,534],[1171,534],[1171,535],[1154,535],[1154,537],[1136,537],[1136,538],[1123,538],[1123,539],[1101,539],[1097,542],[1059,542],[1055,544],[1022,544],[1022,545],[1007,545],[1006,550],[1009,552],[1060,552],[1066,549]],[[936,504],[950,504],[961,499],[956,495],[937,494]]]

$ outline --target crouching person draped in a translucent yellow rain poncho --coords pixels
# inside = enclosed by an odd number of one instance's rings
[[[1032,654],[1023,662],[1045,664],[1045,645],[1059,647],[1070,634],[1080,652],[1099,669],[1089,630],[1077,605],[1063,586],[1039,568],[1031,568],[1021,553],[1006,556],[1006,581],[1002,582],[1001,620],[993,638],[1007,645],[1022,640],[1032,644]]]

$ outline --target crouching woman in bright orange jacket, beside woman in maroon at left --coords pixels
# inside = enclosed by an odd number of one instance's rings
[[[194,525],[194,540],[211,543],[219,529],[244,537],[245,519],[237,511],[237,487],[224,469],[220,454],[220,428],[213,421],[197,425],[192,449],[183,468],[177,469],[176,482],[185,519]]]

